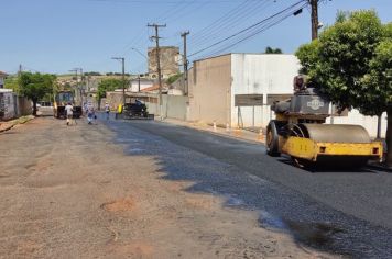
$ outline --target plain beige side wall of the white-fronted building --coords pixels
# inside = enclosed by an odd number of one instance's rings
[[[189,71],[189,121],[230,123],[231,56],[198,60]]]

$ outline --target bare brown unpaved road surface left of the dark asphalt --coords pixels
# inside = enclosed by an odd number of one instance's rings
[[[11,258],[326,258],[225,198],[165,180],[104,125],[37,119],[0,135],[0,255]],[[128,146],[138,139],[124,139]]]

